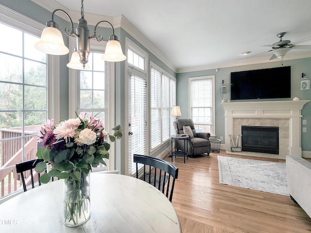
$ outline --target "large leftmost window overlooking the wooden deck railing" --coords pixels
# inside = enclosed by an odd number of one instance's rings
[[[0,31],[14,35],[0,37],[0,197],[3,197],[21,186],[15,164],[36,158],[37,130],[48,116],[48,79],[47,55],[34,47],[39,38],[3,23]]]

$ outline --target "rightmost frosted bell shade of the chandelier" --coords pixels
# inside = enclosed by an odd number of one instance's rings
[[[121,62],[126,59],[121,49],[121,44],[117,40],[109,40],[102,59],[107,62]]]

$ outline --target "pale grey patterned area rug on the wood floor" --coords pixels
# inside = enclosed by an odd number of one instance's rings
[[[218,155],[219,183],[290,196],[286,164]]]

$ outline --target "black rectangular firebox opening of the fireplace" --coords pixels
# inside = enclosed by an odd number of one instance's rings
[[[279,127],[242,125],[242,151],[279,154]]]

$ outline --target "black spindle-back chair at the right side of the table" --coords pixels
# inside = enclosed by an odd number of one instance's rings
[[[136,178],[138,178],[138,164],[143,164],[143,181],[148,182],[154,185],[158,190],[160,190],[167,198],[170,193],[169,200],[172,202],[173,191],[175,185],[175,179],[178,177],[178,167],[175,165],[155,157],[134,154],[134,163],[136,163]],[[149,166],[149,169],[146,171],[146,166]],[[159,169],[159,172],[156,172]],[[152,173],[152,170],[154,173]],[[162,171],[164,172],[162,176]],[[149,173],[149,174],[148,174]],[[154,181],[152,182],[152,175],[154,176]],[[159,177],[156,181],[156,177]],[[147,180],[146,180],[147,177]],[[162,179],[163,177],[163,179]],[[173,181],[171,183],[171,180]],[[166,184],[167,183],[167,184]],[[162,184],[162,185],[161,185]],[[166,192],[165,190],[166,185]]]

